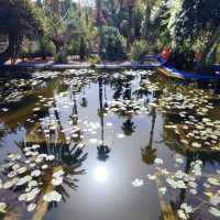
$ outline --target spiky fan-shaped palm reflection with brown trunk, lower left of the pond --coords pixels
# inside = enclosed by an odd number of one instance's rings
[[[57,119],[59,121],[58,112],[56,112],[56,117],[58,117]],[[36,129],[38,130],[38,127],[36,127]],[[43,164],[48,165],[45,170],[42,170],[42,176],[38,179],[42,183],[42,193],[47,194],[55,189],[62,195],[63,200],[66,201],[66,199],[70,195],[65,186],[75,190],[78,188],[77,183],[79,179],[77,178],[77,176],[85,174],[85,169],[81,169],[80,167],[82,165],[82,162],[87,158],[88,154],[84,153],[84,147],[79,147],[77,143],[73,143],[72,141],[67,143],[65,133],[61,131],[62,127],[61,123],[58,123],[56,131],[50,133],[50,141],[43,141],[46,140],[46,136],[43,136],[43,133],[33,132],[34,135],[41,135],[38,138],[34,136],[32,139],[30,135],[28,135],[24,142],[18,143],[18,146],[21,148],[21,152],[24,155],[26,155],[26,151],[24,150],[31,148],[34,144],[40,145],[40,147],[36,150],[37,154],[54,155],[53,161],[36,163],[34,169],[41,169]],[[53,136],[53,142],[51,135]],[[36,140],[38,140],[38,142]],[[34,157],[32,156],[25,157],[30,161],[34,160]],[[65,172],[63,184],[58,186],[53,186],[53,173],[59,169],[63,169]],[[18,188],[18,191],[20,190],[23,191],[23,188]],[[57,207],[57,202],[47,204],[46,201],[44,201],[43,194],[36,197],[35,202],[37,204],[37,208],[33,217],[34,220],[43,219],[45,212],[48,209]]]

